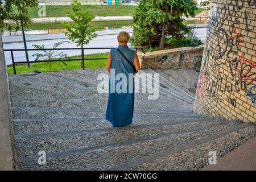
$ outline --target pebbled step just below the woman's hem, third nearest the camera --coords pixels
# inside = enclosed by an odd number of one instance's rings
[[[106,147],[120,146],[124,144],[134,144],[146,142],[147,140],[169,137],[172,135],[200,131],[225,125],[226,123],[216,122],[197,122],[184,125],[160,125],[150,127],[125,127],[119,129],[105,129],[84,131],[71,131],[65,133],[49,133],[38,135],[23,135],[15,137],[18,155],[21,158],[33,156],[40,150],[47,150],[47,154],[56,152],[79,150],[88,148],[87,152],[103,150]],[[24,150],[23,146],[26,146]]]

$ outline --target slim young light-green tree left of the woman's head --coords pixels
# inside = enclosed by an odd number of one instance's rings
[[[88,44],[90,40],[97,37],[95,30],[90,27],[90,22],[95,18],[90,14],[89,10],[82,10],[81,3],[76,0],[72,3],[72,10],[64,10],[69,18],[73,20],[72,23],[64,23],[69,40],[75,42],[77,46],[84,48],[84,45]],[[84,59],[84,51],[81,51],[82,59]]]

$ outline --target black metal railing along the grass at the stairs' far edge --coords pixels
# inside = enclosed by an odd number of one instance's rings
[[[88,48],[44,48],[44,49],[3,49],[4,52],[11,52],[11,62],[13,65],[13,71],[14,74],[16,75],[16,67],[15,64],[30,64],[30,63],[47,63],[47,62],[58,62],[58,61],[82,61],[82,69],[85,69],[85,64],[84,61],[85,60],[103,60],[103,59],[107,59],[107,57],[97,57],[97,58],[85,58],[84,55],[84,50],[85,49],[114,49],[115,47],[88,47]],[[135,49],[135,51],[137,52],[138,49],[142,49],[143,47],[130,47],[132,49]],[[38,61],[18,61],[16,62],[14,59],[14,52],[15,51],[59,51],[59,50],[82,50],[83,53],[81,53],[81,59],[54,59],[54,60],[38,60]],[[143,49],[142,49],[143,51]]]

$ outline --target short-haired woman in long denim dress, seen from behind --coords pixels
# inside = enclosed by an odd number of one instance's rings
[[[119,46],[117,47],[119,51],[123,53],[127,57],[131,63],[135,65],[137,71],[141,69],[139,65],[138,55],[135,50],[130,49],[127,46],[129,42],[130,35],[128,32],[121,31],[117,35],[117,41]],[[118,49],[112,49],[109,53],[106,70],[110,73],[109,77],[109,101],[106,109],[106,119],[112,123],[113,127],[121,127],[130,125],[133,121],[133,110],[134,110],[134,78],[132,75],[132,81],[129,81],[129,73],[130,76],[133,74],[133,68]],[[111,70],[111,71],[110,71]],[[122,73],[122,74],[119,74]],[[114,92],[120,84],[118,84],[118,79],[115,80],[117,75],[125,75],[126,76],[126,89],[121,88],[122,90],[127,90],[127,92]],[[117,76],[118,77],[118,76]],[[122,78],[119,79],[122,81]],[[117,85],[118,84],[118,85]],[[111,92],[110,92],[111,90]],[[128,92],[128,90],[132,90],[132,92]]]

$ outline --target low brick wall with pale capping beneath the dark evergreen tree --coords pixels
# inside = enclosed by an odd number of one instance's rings
[[[142,69],[193,68],[202,59],[204,46],[183,47],[138,54]]]

